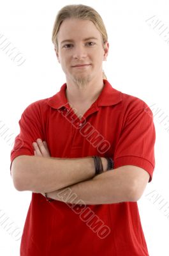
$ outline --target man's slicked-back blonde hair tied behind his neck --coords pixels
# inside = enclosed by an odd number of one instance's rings
[[[52,43],[55,45],[56,49],[58,49],[57,42],[57,33],[61,27],[63,20],[65,19],[82,19],[82,20],[91,20],[98,31],[101,33],[103,49],[105,49],[105,43],[108,41],[107,30],[105,28],[105,24],[101,19],[96,10],[91,8],[90,6],[86,6],[84,4],[70,4],[66,5],[59,10],[57,16],[55,17],[54,27],[52,30]],[[103,71],[103,79],[107,79],[105,72]]]

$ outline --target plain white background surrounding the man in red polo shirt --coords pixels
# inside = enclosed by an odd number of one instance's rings
[[[23,65],[17,66],[0,49],[0,127],[5,124],[17,136],[18,120],[24,109],[31,102],[51,97],[66,82],[51,40],[55,15],[66,4],[92,6],[103,18],[110,44],[103,67],[112,86],[139,97],[149,106],[156,104],[169,116],[169,44],[165,42],[164,34],[159,35],[146,22],[156,15],[165,24],[164,28],[169,27],[168,1],[7,0],[0,3],[0,35],[6,36],[26,58]],[[147,196],[156,191],[169,205],[169,133],[159,123],[159,118],[154,119],[156,168],[152,182],[147,184],[138,201],[138,207],[150,256],[169,256],[169,218]],[[22,233],[31,192],[19,192],[13,187],[10,177],[12,147],[3,136],[0,136],[0,145],[0,216],[3,212]],[[19,248],[20,239],[16,241],[0,224],[0,255],[18,256]]]

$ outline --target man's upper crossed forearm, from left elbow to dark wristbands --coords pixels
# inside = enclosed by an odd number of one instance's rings
[[[18,157],[16,157],[18,158]],[[55,159],[54,157],[19,156],[11,167],[15,188],[35,193],[54,191],[95,175],[92,157]]]

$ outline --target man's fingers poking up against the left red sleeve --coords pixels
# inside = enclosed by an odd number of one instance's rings
[[[41,157],[50,157],[50,152],[48,150],[48,145],[46,141],[37,139],[36,142],[33,142],[34,156]]]

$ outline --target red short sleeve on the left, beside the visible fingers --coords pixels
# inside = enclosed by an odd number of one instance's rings
[[[15,157],[20,155],[34,156],[33,142],[38,138],[44,140],[40,108],[37,104],[33,103],[24,110],[18,124],[20,133],[16,136],[11,150],[11,163]]]

